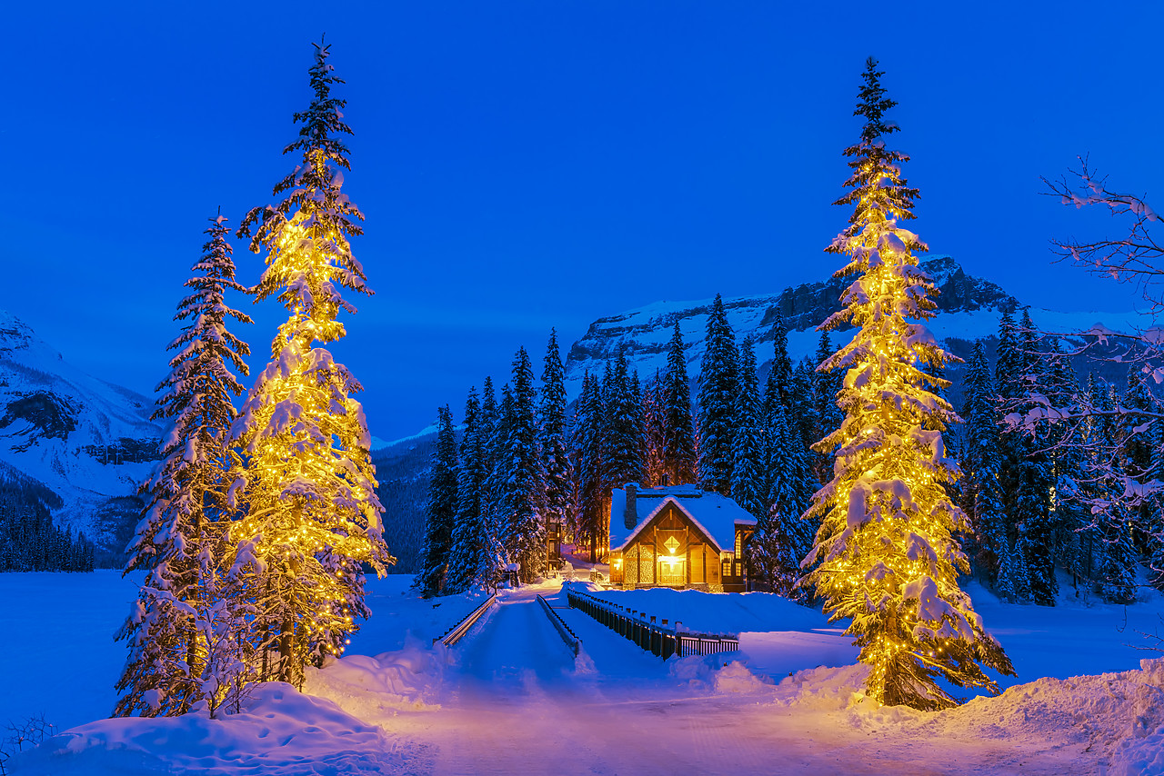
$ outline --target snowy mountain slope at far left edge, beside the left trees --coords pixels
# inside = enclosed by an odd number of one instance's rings
[[[0,311],[0,462],[61,498],[54,517],[94,540],[99,562],[120,558],[141,506],[137,483],[158,457],[151,410],[148,398],[81,372]]]

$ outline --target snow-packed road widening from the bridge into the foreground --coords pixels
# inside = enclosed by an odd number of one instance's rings
[[[676,676],[676,661],[665,664],[568,610],[583,641],[576,668],[537,592],[510,593],[455,648],[440,710],[368,720],[421,745],[424,773],[1058,775],[1079,766],[1073,746],[1032,752],[1030,741],[982,741],[970,731],[894,729],[902,720],[892,713],[871,724],[836,703],[781,705],[778,688],[743,671],[716,688],[700,678],[697,661]]]

